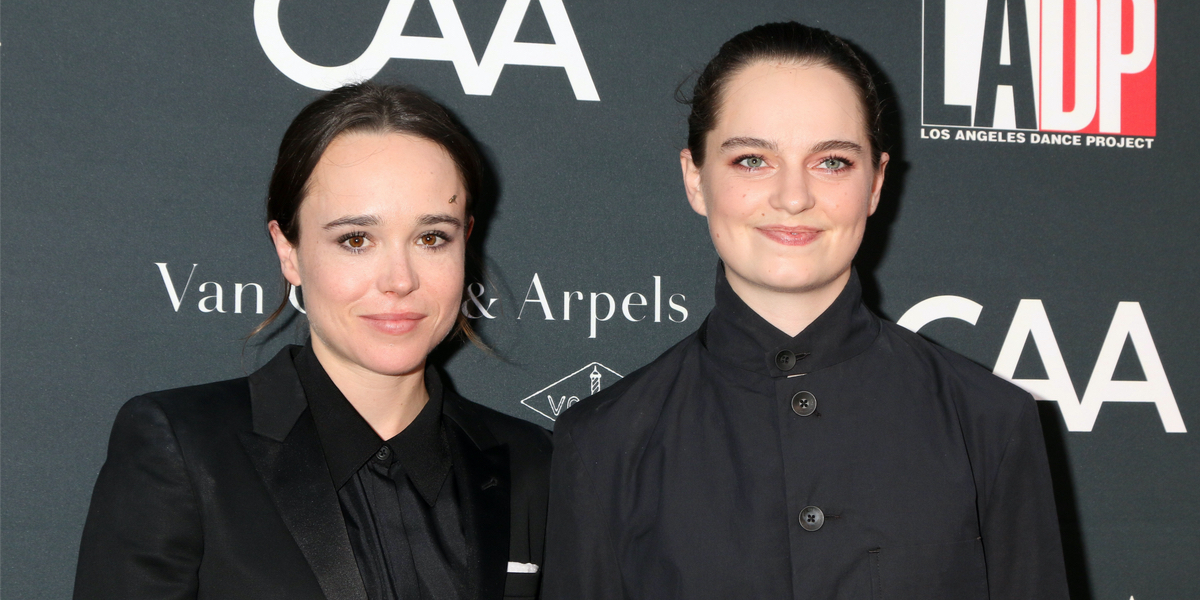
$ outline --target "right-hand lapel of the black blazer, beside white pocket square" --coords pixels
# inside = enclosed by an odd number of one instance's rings
[[[443,414],[456,426],[458,454],[463,461],[462,482],[467,530],[479,548],[479,598],[504,596],[508,575],[511,486],[508,448],[500,445],[466,400],[446,390]]]

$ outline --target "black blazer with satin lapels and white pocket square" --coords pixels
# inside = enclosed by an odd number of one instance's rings
[[[508,563],[542,564],[550,433],[449,389],[443,415],[474,482],[480,598],[536,598],[540,572]],[[250,377],[121,408],[74,598],[366,600],[289,348]]]

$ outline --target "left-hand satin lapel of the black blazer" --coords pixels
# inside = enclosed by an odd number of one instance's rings
[[[254,432],[241,443],[325,598],[367,600],[290,350],[250,376]]]

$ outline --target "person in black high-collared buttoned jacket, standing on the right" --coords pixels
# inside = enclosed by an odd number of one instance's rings
[[[557,421],[545,598],[1067,598],[1033,398],[863,305],[880,115],[820,29],[704,68],[680,163],[715,307]]]

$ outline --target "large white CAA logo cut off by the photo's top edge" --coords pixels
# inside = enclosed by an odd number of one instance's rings
[[[370,79],[391,59],[414,59],[452,62],[462,91],[474,96],[492,95],[504,65],[529,65],[564,68],[577,100],[600,100],[563,0],[538,0],[554,43],[517,42],[517,30],[532,0],[504,2],[484,58],[478,64],[454,0],[430,0],[443,37],[402,35],[414,1],[391,0],[367,49],[353,61],[335,67],[313,65],[292,50],[280,30],[280,0],[254,1],[254,31],[266,58],[283,74],[318,90],[332,90]]]

